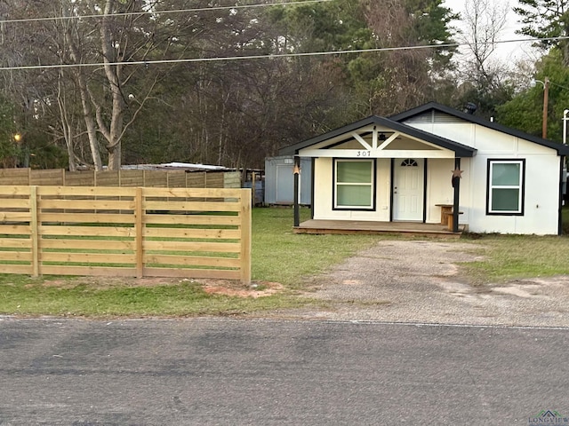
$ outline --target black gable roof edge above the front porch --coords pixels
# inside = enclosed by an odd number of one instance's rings
[[[360,120],[359,122],[352,122],[351,124],[347,124],[336,130],[328,131],[327,133],[319,135],[315,138],[309,138],[297,144],[285,146],[284,148],[281,148],[278,153],[280,155],[295,155],[298,154],[299,151],[303,148],[316,145],[320,142],[336,138],[343,134],[349,134],[352,131],[365,128],[366,126],[369,126],[371,124],[385,126],[391,130],[397,130],[401,133],[412,136],[413,138],[419,138],[421,140],[424,140],[425,142],[429,142],[436,146],[441,146],[443,148],[449,149],[453,151],[457,157],[472,157],[477,152],[477,150],[471,146],[462,145],[451,139],[442,138],[427,131],[416,129],[412,126],[408,126],[403,122],[397,122],[389,118],[372,115],[363,120]]]

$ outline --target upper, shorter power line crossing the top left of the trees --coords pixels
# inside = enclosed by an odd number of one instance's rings
[[[213,6],[213,7],[199,7],[194,9],[176,9],[172,11],[141,11],[141,12],[124,12],[124,13],[100,13],[92,15],[75,15],[75,16],[52,16],[52,17],[41,17],[41,18],[24,18],[19,20],[0,20],[0,24],[12,24],[16,22],[37,22],[45,20],[86,20],[95,18],[106,18],[112,16],[140,16],[149,14],[172,14],[172,13],[187,13],[187,12],[210,12],[210,11],[228,11],[228,10],[238,10],[238,9],[248,9],[257,7],[268,7],[268,6],[286,6],[292,4],[313,4],[313,3],[327,3],[333,0],[301,0],[299,2],[281,2],[281,3],[270,3],[270,4],[242,4],[233,6]]]

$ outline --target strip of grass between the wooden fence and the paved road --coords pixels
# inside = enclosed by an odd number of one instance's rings
[[[14,276],[12,276],[13,278]],[[258,299],[207,294],[192,281],[137,288],[93,288],[81,280],[70,287],[46,287],[43,280],[2,279],[0,312],[57,316],[195,316],[233,315],[300,305],[292,296]]]

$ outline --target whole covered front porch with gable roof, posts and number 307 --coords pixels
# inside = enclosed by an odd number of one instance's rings
[[[281,154],[294,156],[295,233],[460,237],[464,231],[459,224],[461,159],[473,157],[475,148],[372,116],[288,146]],[[311,220],[303,223],[298,214],[301,158],[311,159],[313,188]]]

